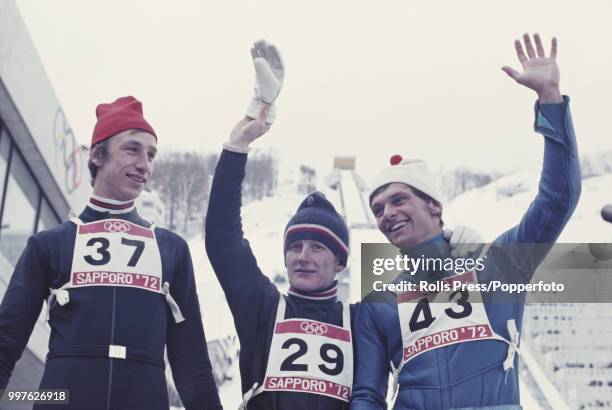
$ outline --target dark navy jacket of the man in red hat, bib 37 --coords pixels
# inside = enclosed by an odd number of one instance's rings
[[[83,222],[111,217],[87,207]],[[112,215],[149,226],[136,211]],[[70,279],[76,225],[64,222],[28,241],[0,305],[0,388],[21,356],[49,288]],[[163,295],[127,287],[71,289],[70,302],[50,311],[49,354],[41,389],[69,389],[61,409],[168,409],[167,347],[177,391],[190,410],[221,409],[185,241],[155,228],[163,280],[185,321],[175,323]],[[109,345],[127,347],[126,359],[108,357]],[[38,406],[35,408],[42,408]],[[46,408],[46,406],[44,406]]]

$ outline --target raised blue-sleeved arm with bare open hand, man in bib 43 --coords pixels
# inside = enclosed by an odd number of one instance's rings
[[[508,249],[514,265],[529,280],[576,208],[580,197],[581,176],[569,98],[562,97],[559,91],[557,40],[552,39],[548,57],[539,35],[534,35],[535,49],[527,34],[523,36],[523,41],[527,55],[521,42],[515,42],[523,72],[507,66],[502,69],[538,95],[534,127],[544,135],[544,162],[537,196],[520,223],[499,236],[495,242],[505,246],[543,244]]]

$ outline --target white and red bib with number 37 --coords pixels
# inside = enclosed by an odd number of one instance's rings
[[[125,286],[163,293],[154,231],[122,219],[78,225],[70,287],[84,286]]]

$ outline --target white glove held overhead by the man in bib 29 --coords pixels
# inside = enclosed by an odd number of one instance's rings
[[[274,100],[283,86],[285,66],[283,59],[274,44],[266,40],[258,40],[251,48],[253,65],[255,66],[255,95],[247,109],[246,116],[256,119],[264,105],[270,105],[266,122],[272,124],[276,117]]]

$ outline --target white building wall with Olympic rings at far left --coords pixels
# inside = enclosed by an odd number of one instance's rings
[[[26,161],[35,174],[46,166],[70,207],[80,209],[90,192],[87,152],[72,134],[13,0],[0,0],[0,80],[14,106],[4,99],[0,113]],[[30,158],[36,151],[44,163]],[[41,185],[45,192],[55,188]]]

